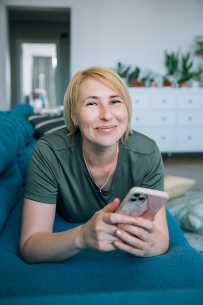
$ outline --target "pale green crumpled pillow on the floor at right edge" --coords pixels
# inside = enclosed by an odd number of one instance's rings
[[[191,192],[189,195],[170,199],[166,202],[166,208],[182,229],[203,229],[203,193]]]

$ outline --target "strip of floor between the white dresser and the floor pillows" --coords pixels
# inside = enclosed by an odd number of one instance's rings
[[[190,191],[203,191],[203,153],[163,154],[165,174],[195,179]]]

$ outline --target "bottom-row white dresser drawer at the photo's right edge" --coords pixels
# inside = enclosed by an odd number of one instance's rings
[[[203,128],[180,128],[177,131],[177,146],[202,148],[203,150]]]

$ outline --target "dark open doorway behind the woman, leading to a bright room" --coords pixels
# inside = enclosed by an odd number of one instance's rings
[[[9,8],[8,20],[11,107],[27,102],[36,87],[47,91],[49,106],[62,105],[70,81],[70,9]]]

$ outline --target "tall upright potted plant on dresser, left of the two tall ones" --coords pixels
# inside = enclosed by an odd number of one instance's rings
[[[164,77],[164,85],[166,85],[166,81],[171,84],[171,86],[176,87],[177,80],[178,80],[178,73],[179,73],[179,53],[171,52],[170,54],[167,53],[165,50],[165,64],[167,69],[167,74]]]

